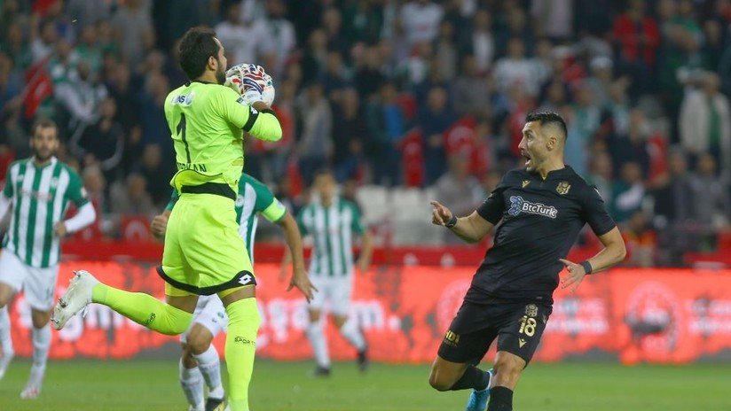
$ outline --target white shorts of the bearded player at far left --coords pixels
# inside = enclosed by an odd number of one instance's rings
[[[20,260],[14,252],[0,253],[0,283],[6,283],[17,292],[24,291],[28,305],[39,311],[51,311],[53,291],[59,265],[49,268],[35,268]]]

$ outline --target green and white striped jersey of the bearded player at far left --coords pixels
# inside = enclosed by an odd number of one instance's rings
[[[61,239],[53,235],[53,224],[63,221],[69,202],[76,207],[89,202],[79,174],[55,157],[43,167],[31,158],[13,162],[5,179],[3,194],[12,201],[12,216],[4,250],[30,267],[58,264]]]

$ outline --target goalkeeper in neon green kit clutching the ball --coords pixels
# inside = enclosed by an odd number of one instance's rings
[[[199,295],[217,294],[229,317],[225,358],[229,406],[248,411],[248,384],[254,367],[255,276],[239,236],[234,201],[244,167],[243,132],[267,141],[281,127],[263,103],[263,70],[242,79],[240,95],[224,86],[226,58],[213,30],[194,27],[180,41],[180,66],[190,79],[165,100],[165,117],[176,151],[177,173],[170,184],[180,199],[170,213],[162,264],[166,303],[144,293],[122,291],[78,271],[54,309],[53,324],[95,302],[145,327],[177,335],[187,330]]]

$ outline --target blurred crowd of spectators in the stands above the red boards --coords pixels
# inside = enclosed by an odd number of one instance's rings
[[[3,0],[0,161],[49,117],[102,231],[159,212],[163,103],[195,25],[274,78],[284,137],[248,141],[246,170],[290,205],[329,165],[350,190],[431,187],[468,213],[520,165],[525,114],[550,110],[631,263],[680,264],[728,228],[729,0]]]

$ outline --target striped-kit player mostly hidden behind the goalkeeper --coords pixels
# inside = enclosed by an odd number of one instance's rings
[[[177,202],[177,190],[166,211],[153,219],[151,229],[157,237],[165,235],[168,217]],[[239,234],[247,245],[248,255],[254,263],[254,237],[258,215],[271,221],[284,230],[289,252],[294,255],[294,271],[289,283],[301,290],[308,299],[312,298],[312,288],[304,268],[302,237],[292,214],[287,212],[277,198],[262,182],[248,174],[241,174],[239,196],[236,199],[236,221]],[[200,296],[193,313],[193,322],[185,333],[180,335],[183,355],[180,359],[180,385],[188,399],[190,411],[212,411],[224,402],[224,387],[221,384],[221,367],[216,347],[211,345],[213,338],[226,329],[228,317],[221,299],[217,296]],[[208,399],[203,401],[203,383],[208,386]]]

